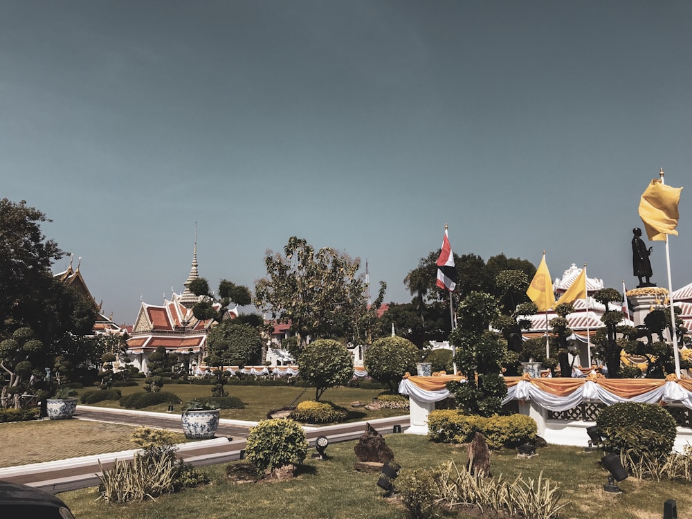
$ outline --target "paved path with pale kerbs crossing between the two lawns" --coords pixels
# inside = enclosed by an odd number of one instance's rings
[[[182,430],[180,415],[173,413],[168,415],[158,412],[78,406],[75,418],[104,421],[113,424],[163,428],[175,430],[176,432]],[[394,430],[403,432],[408,429],[410,417],[409,415],[404,415],[325,427],[305,426],[304,430],[309,445],[313,447],[315,439],[322,435],[329,438],[331,443],[357,439],[365,432],[365,424],[368,422],[380,434],[390,434]],[[180,444],[178,455],[185,462],[195,466],[228,463],[241,459],[248,431],[254,425],[255,422],[250,421],[221,419],[215,439]],[[99,484],[98,475],[102,473],[100,466],[111,468],[116,459],[132,459],[136,452],[137,449],[122,450],[118,453],[0,468],[0,480],[28,484],[51,493],[83,489]]]

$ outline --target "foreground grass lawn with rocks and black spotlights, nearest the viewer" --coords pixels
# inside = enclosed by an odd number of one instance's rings
[[[387,435],[387,444],[394,450],[397,462],[404,468],[436,466],[453,459],[463,465],[466,448],[433,444],[426,437]],[[330,459],[308,458],[300,475],[290,482],[235,485],[226,481],[225,465],[204,468],[212,483],[176,495],[158,498],[156,502],[111,505],[98,498],[95,488],[63,493],[60,497],[79,519],[175,519],[190,513],[205,519],[247,518],[274,519],[399,519],[406,511],[397,500],[382,497],[376,486],[377,474],[353,470],[354,442],[333,444],[327,448]],[[312,451],[311,451],[312,452]],[[493,476],[504,478],[537,478],[543,472],[563,492],[561,518],[569,519],[659,519],[666,499],[677,500],[680,518],[692,516],[692,495],[689,484],[650,482],[628,478],[619,483],[624,493],[603,492],[607,473],[599,468],[599,452],[583,448],[548,446],[538,456],[518,459],[515,450],[495,452],[491,458]],[[448,517],[477,518],[469,513],[450,513]]]

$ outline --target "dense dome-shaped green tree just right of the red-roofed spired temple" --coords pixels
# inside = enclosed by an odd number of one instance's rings
[[[257,328],[226,319],[213,327],[207,336],[212,366],[258,365],[262,361],[264,343]]]

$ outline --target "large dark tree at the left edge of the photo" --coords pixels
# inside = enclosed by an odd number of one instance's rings
[[[29,390],[24,384],[32,374],[34,385],[41,385],[44,369],[50,370],[57,356],[64,356],[73,369],[96,365],[100,357],[91,353],[84,337],[95,322],[93,304],[51,274],[51,264],[64,253],[43,235],[41,224],[48,221],[26,201],[0,200],[0,342],[21,343],[30,336],[31,345],[30,352],[26,345],[19,345],[18,352],[1,349],[0,385],[13,390]],[[21,338],[16,338],[20,329]],[[28,379],[16,376],[17,362],[21,370],[29,369]]]

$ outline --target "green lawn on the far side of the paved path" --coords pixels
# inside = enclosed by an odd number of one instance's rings
[[[194,384],[167,384],[163,386],[163,391],[176,394],[183,403],[199,397],[209,397],[211,395],[210,385],[194,385]],[[117,388],[122,392],[122,395],[143,391],[140,387]],[[294,388],[293,386],[261,386],[261,385],[226,385],[225,390],[233,397],[238,397],[245,403],[244,409],[226,409],[221,411],[221,418],[260,421],[266,419],[266,414],[272,409],[289,406],[295,399],[298,401],[313,400],[315,398],[314,388]],[[93,390],[93,388],[84,388],[80,390],[80,394],[84,391]],[[387,418],[399,415],[408,414],[408,410],[367,410],[364,408],[352,408],[351,403],[361,401],[370,403],[377,395],[384,390],[363,390],[358,388],[331,388],[325,391],[322,395],[323,401],[332,401],[338,406],[345,407],[349,410],[348,421],[359,421],[375,418]],[[300,396],[302,394],[302,396]],[[94,404],[98,407],[118,408],[120,405],[117,401],[103,401]],[[166,412],[167,404],[161,406],[152,406],[146,408],[147,411]],[[179,412],[181,406],[174,406],[174,410]]]

